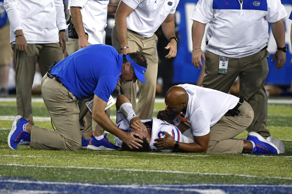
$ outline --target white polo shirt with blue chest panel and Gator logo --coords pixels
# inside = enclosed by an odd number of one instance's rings
[[[241,58],[259,52],[269,38],[268,22],[287,15],[280,0],[200,0],[190,19],[209,24],[207,50]]]

